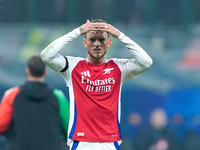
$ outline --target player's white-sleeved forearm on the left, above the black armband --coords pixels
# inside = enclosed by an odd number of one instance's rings
[[[79,28],[76,28],[73,31],[53,41],[44,50],[42,50],[41,57],[43,61],[47,64],[51,64],[53,61],[55,61],[55,59],[59,59],[59,57],[61,58],[61,55],[59,54],[60,50],[80,35],[81,34]]]

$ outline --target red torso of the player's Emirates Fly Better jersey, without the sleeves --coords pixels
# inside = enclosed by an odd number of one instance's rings
[[[67,57],[69,68],[62,73],[70,90],[69,138],[86,142],[121,140],[120,67],[109,60],[93,65],[87,59]]]

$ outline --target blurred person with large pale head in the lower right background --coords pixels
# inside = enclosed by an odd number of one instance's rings
[[[150,114],[150,126],[142,129],[134,141],[134,150],[180,150],[180,142],[168,126],[166,112],[156,108]]]

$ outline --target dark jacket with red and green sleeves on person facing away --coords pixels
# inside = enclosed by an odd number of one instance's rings
[[[12,103],[12,108],[8,109],[13,109],[8,129],[4,129],[7,138],[5,150],[61,150],[62,131],[64,134],[67,132],[69,105],[66,98],[66,102],[63,101],[64,95],[61,98],[56,93],[59,92],[45,83],[28,81],[5,94],[1,105],[7,100]],[[66,106],[61,106],[63,104]],[[64,116],[61,107],[68,109],[65,110],[68,114]],[[6,111],[4,109],[1,111]]]

